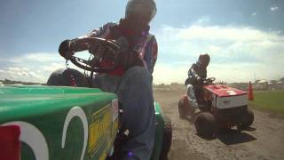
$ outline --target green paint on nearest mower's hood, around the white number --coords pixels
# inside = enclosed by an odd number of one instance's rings
[[[68,111],[79,106],[83,109],[88,130],[92,115],[99,109],[111,108],[111,101],[116,99],[114,93],[101,92],[99,89],[79,87],[51,86],[3,86],[0,87],[0,124],[12,121],[23,121],[36,126],[43,133],[49,148],[50,159],[80,159],[83,149],[83,124],[75,117],[67,128],[65,148],[61,148],[63,125]],[[108,109],[112,112],[112,109]],[[110,113],[113,115],[113,113]],[[112,116],[111,116],[112,118]],[[112,122],[112,119],[109,119]],[[113,143],[116,132],[113,132],[117,120],[107,126],[106,138]],[[89,134],[89,132],[88,132]],[[88,142],[89,143],[89,142]],[[98,152],[91,157],[87,143],[84,159],[98,159],[109,152],[112,146],[106,142],[100,145]],[[31,148],[24,144],[21,148],[22,159],[33,156]],[[106,153],[105,153],[106,152]]]

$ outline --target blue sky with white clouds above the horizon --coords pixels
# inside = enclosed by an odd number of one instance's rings
[[[228,83],[284,77],[283,0],[156,0],[154,84],[185,82],[201,53]],[[45,83],[59,44],[124,17],[126,0],[1,0],[0,80]],[[69,67],[75,68],[69,62]]]

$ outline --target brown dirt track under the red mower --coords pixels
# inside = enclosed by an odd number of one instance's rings
[[[205,140],[196,135],[194,125],[179,118],[177,102],[183,86],[154,88],[154,98],[170,116],[173,139],[170,160],[284,159],[284,119],[254,110],[255,121],[248,131],[232,129]]]

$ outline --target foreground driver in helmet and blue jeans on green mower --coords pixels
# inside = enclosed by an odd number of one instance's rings
[[[154,0],[129,0],[125,17],[119,23],[106,23],[86,36],[65,40],[59,45],[59,54],[69,60],[74,52],[86,50],[87,46],[77,43],[83,37],[125,39],[125,51],[118,56],[121,65],[99,72],[91,82],[70,68],[55,71],[47,82],[48,85],[99,87],[118,95],[123,110],[120,131],[127,130],[129,134],[113,159],[147,160],[152,154],[155,133],[152,73],[158,47],[155,37],[149,33],[149,23],[156,11]],[[112,68],[112,65],[103,60],[98,67]]]

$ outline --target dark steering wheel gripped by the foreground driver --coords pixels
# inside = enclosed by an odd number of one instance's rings
[[[91,57],[89,60],[83,60],[75,56],[75,53],[70,57],[70,61],[78,68],[89,70],[93,72],[111,71],[116,67],[116,58],[121,48],[118,44],[115,44],[114,40],[106,40],[100,37],[86,37],[77,39],[76,44],[85,46],[83,51],[89,51]],[[82,51],[80,51],[82,52]],[[99,62],[102,60],[108,60],[112,62],[111,68],[99,67]]]

